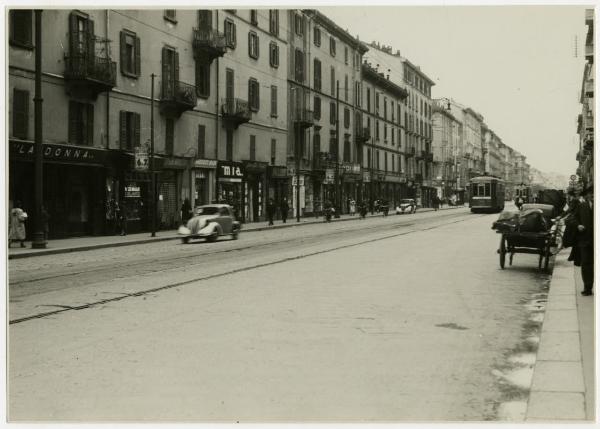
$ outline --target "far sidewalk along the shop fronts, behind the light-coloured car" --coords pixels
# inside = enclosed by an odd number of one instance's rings
[[[449,210],[453,208],[461,208],[464,206],[444,207],[440,210]],[[433,211],[432,208],[421,208],[417,211],[419,213]],[[394,216],[393,212],[390,211],[390,216]],[[367,214],[367,218],[370,217],[382,217],[381,214]],[[340,218],[332,218],[331,222],[343,222],[349,220],[358,220],[359,216],[354,215],[341,215]],[[242,233],[264,231],[267,229],[278,229],[278,228],[289,228],[293,226],[309,225],[314,223],[324,222],[324,217],[319,218],[309,217],[301,218],[300,222],[296,222],[296,218],[288,218],[287,223],[281,221],[275,221],[275,225],[267,226],[267,222],[253,222],[245,223],[242,225]],[[97,236],[97,237],[76,237],[76,238],[65,238],[60,240],[49,240],[46,249],[32,249],[31,243],[26,242],[25,248],[17,247],[18,244],[13,244],[8,249],[8,259],[28,258],[32,256],[42,255],[54,255],[58,253],[69,253],[69,252],[81,252],[84,250],[102,249],[105,247],[119,247],[119,246],[131,246],[135,244],[152,243],[156,241],[176,240],[179,239],[177,230],[170,231],[157,231],[156,237],[150,237],[149,232],[142,232],[138,234],[128,234],[126,236],[120,235],[108,235],[108,236]]]

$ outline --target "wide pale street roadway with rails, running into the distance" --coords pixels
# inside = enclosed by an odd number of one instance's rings
[[[548,276],[532,255],[500,270],[495,218],[11,260],[9,419],[502,419]]]

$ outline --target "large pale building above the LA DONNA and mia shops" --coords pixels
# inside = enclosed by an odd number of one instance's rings
[[[186,198],[262,218],[286,166],[287,62],[279,58],[288,30],[277,17],[51,9],[36,47],[32,11],[11,11],[11,201],[33,207],[32,52],[41,48],[50,237],[111,233],[115,202],[130,230],[149,229],[152,102],[159,225],[177,225]]]

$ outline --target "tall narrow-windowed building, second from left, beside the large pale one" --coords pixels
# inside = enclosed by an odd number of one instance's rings
[[[320,212],[326,201],[346,213],[350,199],[360,197],[362,183],[363,140],[355,127],[368,48],[316,10],[289,10],[287,18],[287,159],[288,170],[299,177],[291,181],[294,206],[300,191],[303,214]]]

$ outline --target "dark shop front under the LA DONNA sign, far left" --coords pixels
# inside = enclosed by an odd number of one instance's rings
[[[27,237],[34,232],[34,153],[32,142],[9,141],[9,208],[19,201],[28,214]],[[73,145],[43,145],[43,204],[49,239],[102,235],[107,231],[104,184],[108,151]]]

